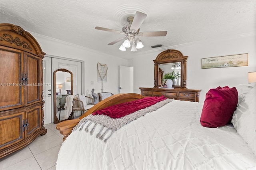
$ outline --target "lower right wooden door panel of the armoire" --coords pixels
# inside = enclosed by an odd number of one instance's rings
[[[34,107],[26,111],[26,138],[30,136],[35,130],[40,129],[41,121],[41,106]]]

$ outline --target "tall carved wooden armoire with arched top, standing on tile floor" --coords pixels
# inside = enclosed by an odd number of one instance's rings
[[[20,26],[0,24],[0,158],[44,135],[45,53]]]

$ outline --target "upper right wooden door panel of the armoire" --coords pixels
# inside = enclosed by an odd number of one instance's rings
[[[27,63],[24,69],[24,76],[26,79],[26,106],[32,105],[41,99],[41,62],[42,61],[40,57],[25,52],[25,63]]]

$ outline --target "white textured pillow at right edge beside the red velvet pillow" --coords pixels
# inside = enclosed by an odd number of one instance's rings
[[[244,95],[236,107],[231,122],[237,133],[244,138],[256,154],[256,88],[255,85],[250,87],[248,93]]]

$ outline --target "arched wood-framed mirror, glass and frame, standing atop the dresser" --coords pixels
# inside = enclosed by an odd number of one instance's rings
[[[186,60],[188,56],[175,49],[167,49],[158,54],[154,61],[154,87],[162,87],[163,77],[166,73],[174,71],[174,88],[186,88]]]

